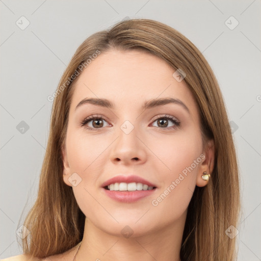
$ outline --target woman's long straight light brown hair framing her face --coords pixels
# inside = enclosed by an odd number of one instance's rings
[[[72,75],[81,74],[81,68],[87,68],[88,61],[97,56],[94,54],[112,48],[148,51],[186,73],[184,81],[200,112],[202,138],[213,139],[215,143],[215,164],[207,186],[196,186],[190,201],[180,258],[234,260],[236,238],[228,237],[225,231],[231,225],[237,228],[239,222],[238,160],[218,82],[210,65],[190,40],[168,25],[150,19],[121,21],[109,30],[91,35],[77,48],[63,73],[56,93],[51,96],[55,98],[48,144],[38,196],[24,221],[30,234],[22,240],[23,252],[44,258],[65,252],[83,239],[85,215],[76,203],[72,188],[63,181],[61,153],[72,87],[78,77]]]

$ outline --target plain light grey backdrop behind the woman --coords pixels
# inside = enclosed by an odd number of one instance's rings
[[[22,253],[16,229],[38,191],[52,106],[47,96],[55,92],[70,58],[89,35],[136,17],[177,29],[213,68],[240,164],[244,216],[238,227],[238,260],[261,260],[260,0],[0,0],[0,7],[1,258]],[[30,22],[24,30],[21,16]],[[236,24],[230,16],[239,22],[233,30],[227,27]],[[17,127],[21,121],[29,126],[24,133]]]

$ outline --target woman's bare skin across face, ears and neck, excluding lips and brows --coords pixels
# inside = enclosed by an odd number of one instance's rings
[[[77,261],[180,261],[188,205],[195,186],[207,185],[201,178],[203,171],[213,171],[214,143],[209,141],[203,146],[196,101],[185,81],[174,79],[174,72],[175,69],[152,54],[112,49],[100,54],[77,79],[63,148],[64,174],[68,173],[63,177],[64,182],[72,187],[87,217]],[[85,104],[75,110],[87,97],[109,99],[115,108]],[[190,113],[173,103],[141,109],[144,101],[163,97],[181,100]],[[95,114],[105,118],[103,126],[98,127],[93,121],[88,123],[93,130],[80,126],[82,120]],[[168,120],[170,129],[166,129],[154,119],[157,115],[164,119],[165,114],[177,119],[180,126],[171,128],[175,124]],[[129,134],[120,128],[126,120],[134,126]],[[200,154],[205,159],[153,206],[151,201]],[[75,172],[82,181],[74,187],[68,178]],[[117,202],[104,193],[101,184],[118,174],[139,175],[157,188],[137,202]],[[121,233],[126,225],[133,230],[129,238]],[[50,258],[62,260],[66,255],[73,260],[76,250],[74,247]]]

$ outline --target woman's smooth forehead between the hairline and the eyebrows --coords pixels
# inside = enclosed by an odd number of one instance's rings
[[[140,50],[110,50],[101,53],[78,76],[71,107],[84,98],[105,98],[116,108],[141,107],[145,100],[172,97],[197,111],[185,81],[177,82],[176,70],[163,59]]]

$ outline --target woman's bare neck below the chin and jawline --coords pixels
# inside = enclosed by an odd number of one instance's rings
[[[187,213],[175,223],[146,235],[124,238],[114,236],[85,219],[84,237],[76,261],[180,261],[179,252]]]

